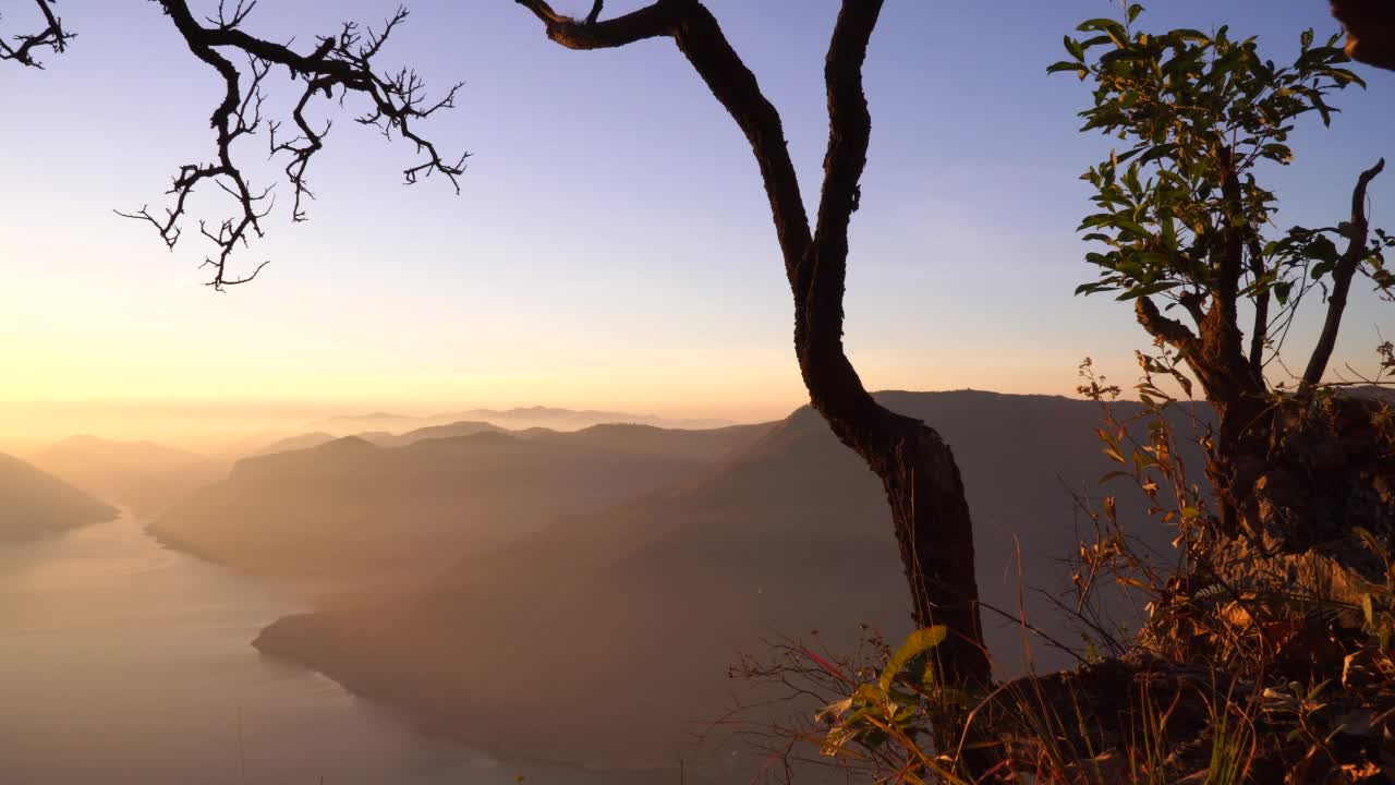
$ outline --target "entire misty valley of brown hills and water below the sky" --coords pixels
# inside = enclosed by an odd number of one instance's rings
[[[981,563],[985,602],[1017,606],[1020,549],[1034,623],[1071,640],[1030,589],[1062,588],[1070,486],[1108,469],[1098,406],[882,399],[947,423],[960,447],[979,542],[1003,555]],[[6,458],[8,771],[580,784],[682,767],[717,782],[751,754],[721,719],[762,698],[728,677],[741,652],[908,630],[896,542],[870,524],[876,478],[810,409],[707,429],[565,425],[314,432],[230,464],[96,437]],[[1060,444],[1077,458],[1046,460]],[[1000,651],[1020,634],[988,630]]]

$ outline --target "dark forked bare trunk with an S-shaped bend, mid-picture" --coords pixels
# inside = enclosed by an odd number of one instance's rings
[[[698,0],[658,0],[612,20],[580,22],[543,0],[516,0],[571,49],[624,46],[672,38],[751,142],[794,296],[795,353],[809,401],[834,434],[882,479],[919,626],[946,624],[939,651],[944,676],[986,683],[988,652],[974,577],[974,528],[953,453],[925,423],[891,412],[864,387],[843,346],[848,223],[858,208],[872,119],[862,91],[868,39],[880,0],[844,0],[829,45],[824,80],[829,147],[817,218],[810,228],[780,113],[721,27]]]

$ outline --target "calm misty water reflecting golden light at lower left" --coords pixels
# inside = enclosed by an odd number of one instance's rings
[[[308,606],[308,589],[166,550],[130,515],[0,543],[0,782],[494,785],[543,774],[420,736],[250,645]]]

